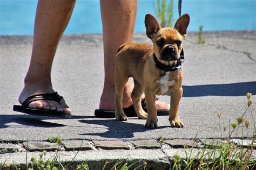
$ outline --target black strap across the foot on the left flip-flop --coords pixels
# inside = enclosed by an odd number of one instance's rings
[[[42,93],[42,94],[37,94],[37,95],[32,95],[28,97],[23,103],[23,107],[28,107],[31,102],[35,101],[55,101],[58,102],[62,99],[63,97],[60,96],[57,91],[55,93]]]

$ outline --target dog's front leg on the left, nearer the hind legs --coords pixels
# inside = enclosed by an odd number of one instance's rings
[[[147,121],[145,127],[157,128],[156,91],[154,91],[154,88],[145,88],[145,98],[147,102]]]

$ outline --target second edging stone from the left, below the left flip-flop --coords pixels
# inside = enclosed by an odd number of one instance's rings
[[[33,151],[55,151],[58,149],[57,143],[50,143],[48,141],[29,141],[28,146],[27,142],[25,141],[23,143],[23,146],[26,148],[26,150],[33,152]]]

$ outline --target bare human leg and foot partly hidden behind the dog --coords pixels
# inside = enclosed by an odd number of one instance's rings
[[[132,41],[136,19],[137,0],[100,1],[103,24],[105,79],[99,108],[114,110],[114,61],[120,45]],[[131,93],[134,87],[131,79],[124,87],[123,108],[132,105]],[[145,96],[143,95],[142,98]],[[156,101],[158,110],[169,110],[166,103]]]

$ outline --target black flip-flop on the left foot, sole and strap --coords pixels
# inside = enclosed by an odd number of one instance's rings
[[[58,102],[63,97],[58,95],[57,92],[55,93],[45,93],[45,94],[38,94],[28,97],[22,105],[14,105],[14,111],[22,112],[24,114],[29,115],[37,115],[37,116],[50,116],[50,117],[61,117],[61,118],[71,118],[71,114],[60,112],[56,110],[45,110],[45,109],[31,109],[29,108],[29,103],[33,101],[39,101],[39,100],[51,100]]]

